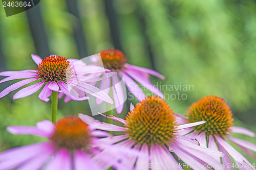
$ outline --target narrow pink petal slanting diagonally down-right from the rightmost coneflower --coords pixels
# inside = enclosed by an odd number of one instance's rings
[[[224,139],[222,139],[221,137],[219,137],[218,135],[215,136],[218,145],[222,145],[223,148],[225,148],[225,150],[228,152],[228,154],[236,161],[238,161],[239,163],[243,163],[243,158],[241,157],[242,155],[236,151],[235,149],[233,149],[233,147],[231,147],[230,144],[228,144],[227,141],[225,141]]]

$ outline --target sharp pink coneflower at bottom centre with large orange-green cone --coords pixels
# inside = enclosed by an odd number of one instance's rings
[[[120,148],[133,148],[139,151],[143,156],[131,156],[122,160],[130,162],[131,168],[157,169],[161,166],[163,169],[182,169],[170,153],[172,152],[194,169],[209,169],[210,166],[223,169],[220,162],[212,158],[212,156],[224,156],[223,153],[201,147],[196,140],[178,134],[182,129],[204,124],[205,121],[178,125],[174,111],[159,97],[148,96],[135,108],[131,105],[131,111],[125,120],[106,116],[122,123],[124,127],[100,123],[88,115],[78,116],[83,122],[99,130],[124,132],[122,135],[101,140],[118,145]],[[162,167],[162,165],[166,166]]]

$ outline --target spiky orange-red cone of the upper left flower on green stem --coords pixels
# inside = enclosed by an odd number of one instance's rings
[[[71,73],[70,62],[64,57],[55,55],[44,58],[37,67],[37,75],[46,81],[63,81]]]

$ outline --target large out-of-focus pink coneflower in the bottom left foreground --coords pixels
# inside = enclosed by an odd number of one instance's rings
[[[84,170],[104,169],[104,164],[126,169],[114,155],[124,153],[114,145],[99,140],[109,133],[91,128],[75,116],[63,117],[54,125],[49,120],[38,122],[36,127],[10,126],[12,134],[30,134],[46,137],[49,141],[13,148],[0,153],[0,169],[11,170]],[[104,153],[100,152],[104,149]],[[95,160],[97,156],[99,160]]]

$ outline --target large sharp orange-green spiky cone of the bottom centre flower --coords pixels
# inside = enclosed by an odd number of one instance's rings
[[[124,126],[127,135],[136,143],[167,145],[173,141],[177,123],[174,111],[163,99],[148,96],[128,113]]]

